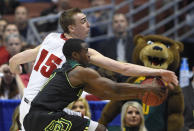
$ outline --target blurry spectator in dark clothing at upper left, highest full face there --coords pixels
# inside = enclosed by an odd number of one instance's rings
[[[20,35],[27,40],[28,31],[28,10],[25,6],[18,6],[15,9],[15,24],[17,25]]]

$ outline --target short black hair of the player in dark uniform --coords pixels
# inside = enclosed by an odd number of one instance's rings
[[[73,52],[80,52],[82,49],[82,43],[84,40],[81,39],[68,39],[63,46],[63,54],[66,58],[70,59]]]

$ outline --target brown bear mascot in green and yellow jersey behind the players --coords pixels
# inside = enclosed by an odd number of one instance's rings
[[[181,42],[161,35],[136,35],[133,63],[146,67],[176,71],[183,51]],[[127,82],[141,83],[146,77],[130,77]],[[99,123],[107,126],[120,112],[126,101],[110,101],[104,107]],[[184,118],[184,98],[180,86],[168,89],[166,100],[158,106],[142,103],[148,131],[181,131]]]

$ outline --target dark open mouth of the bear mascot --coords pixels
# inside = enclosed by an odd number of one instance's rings
[[[148,56],[148,60],[151,65],[154,66],[162,66],[163,63],[165,63],[165,58],[155,57],[155,56]]]

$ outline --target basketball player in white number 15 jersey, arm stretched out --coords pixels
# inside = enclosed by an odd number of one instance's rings
[[[78,8],[64,11],[60,16],[60,24],[64,31],[60,33],[50,33],[35,49],[26,50],[15,56],[10,61],[10,70],[13,73],[21,73],[20,64],[35,60],[33,71],[24,96],[20,104],[20,122],[28,113],[30,102],[38,94],[41,87],[46,83],[54,69],[59,68],[66,61],[62,47],[69,38],[85,39],[89,33],[89,23],[86,15]],[[101,55],[94,49],[89,48],[90,63],[102,68],[121,73],[126,76],[161,76],[168,83],[170,88],[173,84],[178,85],[178,80],[174,72],[152,69],[130,63],[121,63]]]

